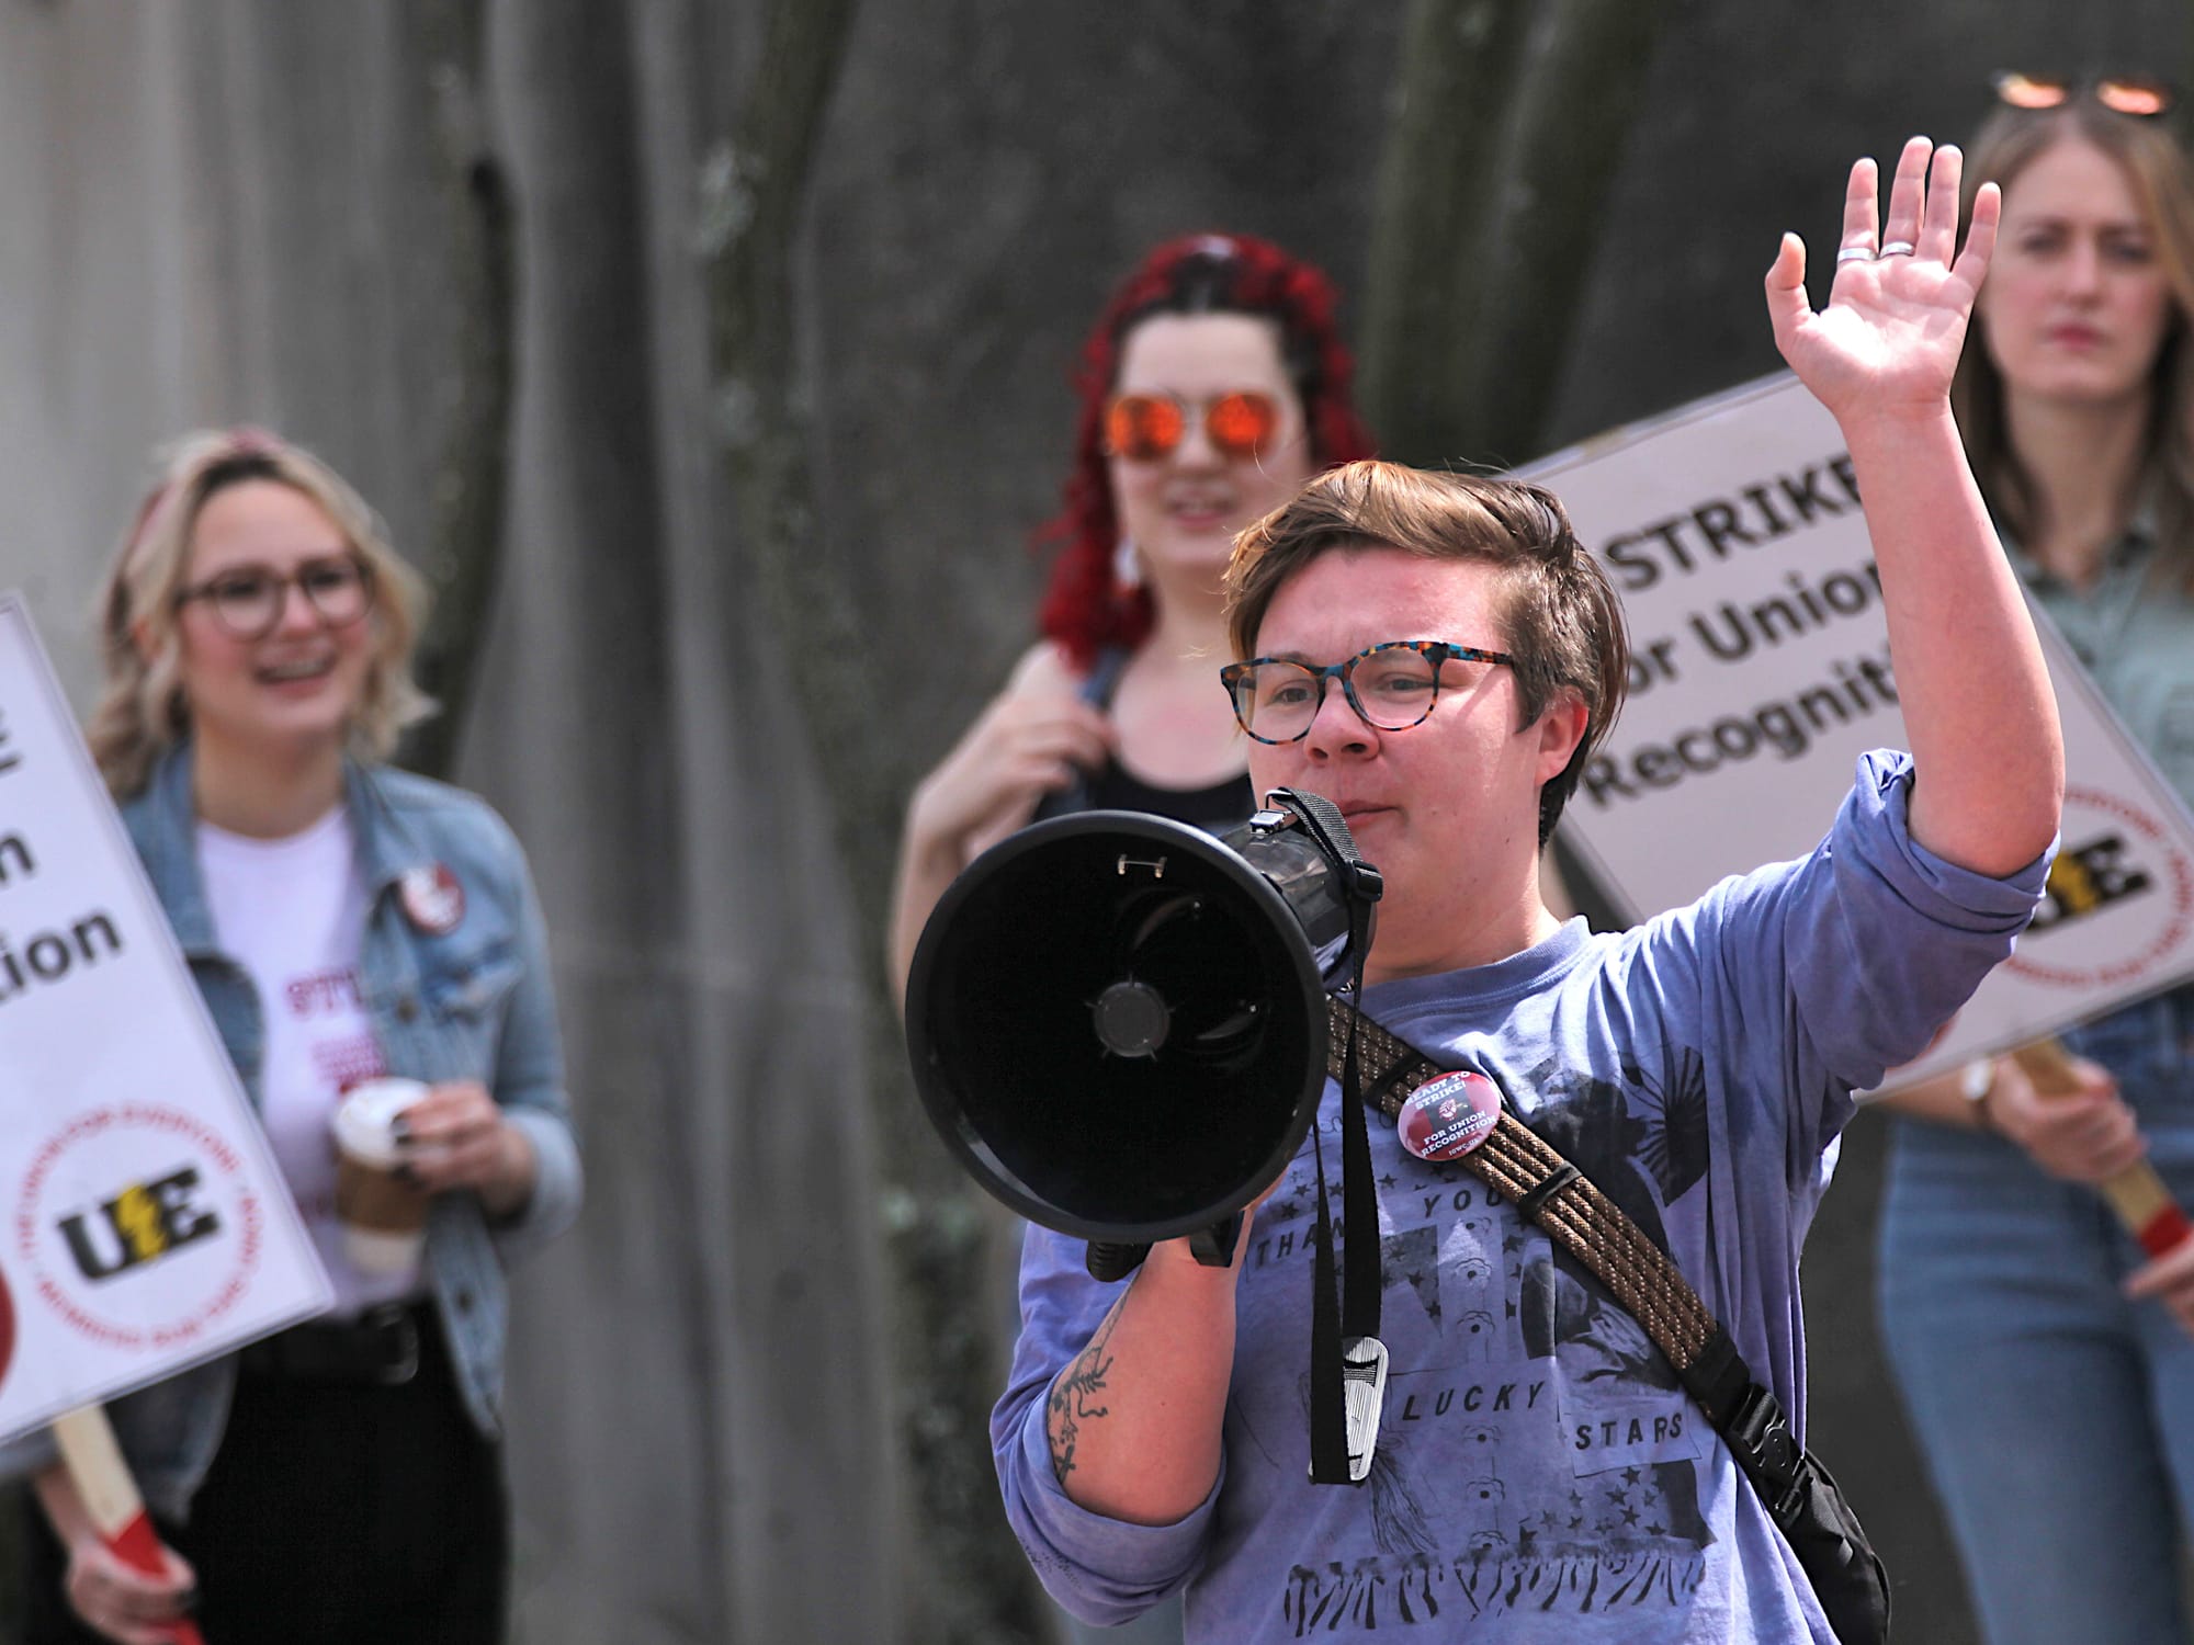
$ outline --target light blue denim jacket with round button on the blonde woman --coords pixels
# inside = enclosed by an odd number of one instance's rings
[[[500,1430],[507,1285],[502,1268],[570,1226],[579,1213],[579,1149],[564,1097],[548,948],[518,840],[483,801],[386,765],[349,765],[344,803],[366,884],[360,985],[382,1062],[417,1079],[478,1079],[533,1145],[533,1198],[489,1222],[472,1193],[437,1195],[426,1277],[450,1340],[459,1393],[483,1434]],[[259,996],[213,941],[197,871],[191,748],[176,748],[123,822],[145,862],[222,1044],[259,1105],[265,1046]],[[448,866],[463,917],[419,930],[397,890],[408,869]],[[228,1421],[235,1358],[213,1360],[108,1406],[147,1505],[182,1520]],[[0,1448],[0,1474],[46,1467],[46,1432]]]

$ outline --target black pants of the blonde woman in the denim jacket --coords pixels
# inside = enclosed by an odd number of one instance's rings
[[[29,1520],[24,1645],[92,1645],[66,1553]],[[241,1373],[191,1522],[158,1529],[197,1570],[206,1645],[505,1638],[502,1452],[465,1417],[430,1318],[402,1386]]]

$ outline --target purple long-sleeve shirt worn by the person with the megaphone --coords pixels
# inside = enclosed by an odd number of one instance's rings
[[[1514,1110],[1661,1235],[1753,1375],[1803,1423],[1797,1259],[1854,1088],[1920,1053],[2012,950],[2047,858],[2010,880],[1911,840],[1911,761],[1869,755],[1830,836],[1637,930],[1571,921],[1483,965],[1367,989],[1371,1018]],[[1044,1391],[1119,1296],[1031,1228],[992,1417],[1007,1516],[1097,1623],[1187,1586],[1187,1638],[1819,1641],[1803,1570],[1674,1373],[1597,1279],[1459,1165],[1371,1116],[1382,1340],[1371,1480],[1308,1478],[1310,1143],[1240,1257],[1224,1461],[1167,1527],[1090,1513],[1051,1472]],[[1319,1127],[1338,1209],[1341,1092]]]

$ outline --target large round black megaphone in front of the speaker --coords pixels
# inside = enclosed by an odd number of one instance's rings
[[[1141,812],[1022,829],[921,930],[906,1044],[974,1180],[1119,1246],[1194,1235],[1294,1158],[1325,1086],[1325,987],[1371,941],[1378,875],[1338,812],[1213,838]]]

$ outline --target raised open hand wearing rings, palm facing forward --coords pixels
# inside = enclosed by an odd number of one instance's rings
[[[1766,279],[1775,347],[1839,421],[1942,415],[1946,406],[2003,211],[1997,184],[1981,184],[1959,250],[1959,171],[1957,149],[1911,138],[1898,156],[1889,215],[1876,228],[1874,160],[1852,167],[1836,281],[1821,311],[1806,296],[1806,243],[1784,235]]]

